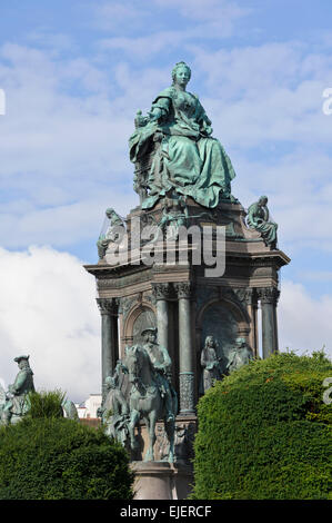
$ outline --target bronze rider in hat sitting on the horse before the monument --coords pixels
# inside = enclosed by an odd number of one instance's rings
[[[155,381],[164,402],[167,412],[167,421],[174,421],[177,413],[173,412],[173,398],[175,392],[171,384],[171,364],[172,361],[165,347],[161,347],[157,343],[155,327],[145,328],[141,335],[144,339],[143,348],[149,354],[152,367],[155,373]]]

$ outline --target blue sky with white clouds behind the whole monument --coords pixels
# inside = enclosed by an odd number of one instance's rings
[[[329,0],[1,2],[3,381],[12,372],[4,358],[26,342],[38,345],[36,359],[42,343],[50,345],[39,329],[54,324],[51,305],[36,316],[38,325],[30,319],[26,328],[27,309],[37,307],[27,279],[32,285],[37,278],[33,289],[43,280],[41,303],[50,304],[60,293],[58,264],[63,282],[71,275],[89,298],[82,312],[81,292],[70,288],[69,295],[69,284],[62,285],[60,304],[80,299],[72,306],[76,330],[63,326],[57,344],[82,368],[91,366],[99,386],[99,362],[91,359],[99,351],[94,284],[80,267],[97,262],[104,209],[113,206],[124,215],[138,204],[128,158],[133,118],[138,109],[150,109],[180,60],[191,66],[189,90],[199,93],[232,159],[233,194],[245,208],[269,196],[280,248],[292,258],[282,269],[282,347],[331,349],[332,115],[322,110],[323,90],[332,87],[331,17]],[[18,260],[21,280],[13,273]],[[37,330],[42,343],[36,342]],[[87,336],[83,342],[87,332],[93,349]],[[52,344],[49,351],[53,354]],[[41,364],[39,372],[51,379]]]

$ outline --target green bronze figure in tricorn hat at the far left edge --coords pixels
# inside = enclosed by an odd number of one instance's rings
[[[9,385],[6,394],[0,391],[1,424],[9,425],[19,422],[30,408],[29,393],[34,392],[33,372],[29,365],[30,356],[14,358],[19,366],[19,373],[12,385]]]

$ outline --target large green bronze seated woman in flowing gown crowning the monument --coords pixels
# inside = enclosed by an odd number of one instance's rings
[[[151,142],[160,141],[144,182],[149,195],[143,209],[152,208],[171,189],[209,208],[217,207],[220,197],[233,200],[235,172],[222,145],[212,138],[211,120],[198,97],[185,90],[190,77],[189,66],[177,63],[172,86],[158,95],[148,117],[137,119],[129,141],[131,161],[140,161]],[[140,193],[140,187],[135,190]]]

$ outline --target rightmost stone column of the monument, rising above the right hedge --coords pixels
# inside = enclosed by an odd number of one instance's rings
[[[262,307],[262,354],[263,358],[278,352],[276,302],[279,290],[275,287],[258,289]]]

